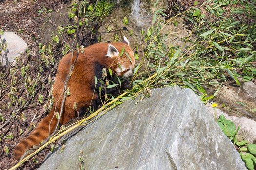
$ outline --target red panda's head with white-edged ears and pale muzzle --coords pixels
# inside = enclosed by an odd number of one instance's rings
[[[113,59],[112,66],[110,67],[118,76],[124,78],[133,75],[133,68],[135,65],[134,53],[130,48],[130,42],[123,36],[123,42],[108,43],[107,57]],[[122,56],[120,56],[122,50]]]

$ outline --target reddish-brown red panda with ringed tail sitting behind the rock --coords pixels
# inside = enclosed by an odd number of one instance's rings
[[[120,56],[123,48],[123,55]],[[58,122],[55,113],[60,112],[61,109],[64,81],[69,76],[70,66],[75,62],[75,58],[76,53],[74,52],[73,57],[69,53],[60,60],[53,85],[53,97],[55,100],[53,108],[41,120],[36,129],[15,147],[14,157],[16,159],[19,160],[27,149],[33,147],[33,145],[39,145],[49,134],[53,133]],[[117,87],[104,88],[102,90],[100,81],[97,81],[98,83],[95,85],[95,79],[102,79],[103,68],[106,68],[106,70],[110,68],[113,74],[115,73],[127,79],[133,75],[134,65],[134,53],[129,47],[129,41],[125,36],[123,42],[97,43],[84,48],[84,52],[79,52],[78,54],[71,77],[67,83],[71,95],[66,97],[60,124],[65,124],[70,119],[77,117],[78,114],[84,114],[89,107],[98,108],[101,103],[101,95],[118,94]],[[130,82],[123,82],[120,88],[122,88],[121,90],[131,88]],[[74,109],[74,103],[76,103],[76,109]]]

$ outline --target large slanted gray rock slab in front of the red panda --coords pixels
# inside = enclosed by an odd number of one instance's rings
[[[66,142],[39,170],[246,170],[231,141],[189,89],[129,100]]]

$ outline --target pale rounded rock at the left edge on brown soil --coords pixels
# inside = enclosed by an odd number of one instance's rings
[[[2,51],[3,58],[0,57],[0,62],[2,65],[6,65],[13,61],[13,64],[15,64],[15,58],[20,57],[26,51],[27,43],[14,32],[4,32],[1,39],[7,43],[7,48],[6,52]]]

